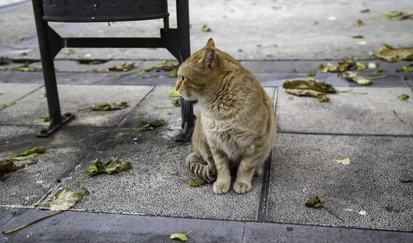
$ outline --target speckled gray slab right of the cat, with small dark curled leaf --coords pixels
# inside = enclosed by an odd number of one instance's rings
[[[412,231],[413,137],[277,134],[266,220]],[[349,165],[336,159],[350,156]],[[305,207],[310,196],[324,209]],[[366,215],[361,215],[366,211]]]

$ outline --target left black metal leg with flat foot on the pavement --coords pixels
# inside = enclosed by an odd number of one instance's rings
[[[49,109],[50,124],[47,129],[41,129],[37,137],[47,137],[52,132],[56,131],[63,124],[67,123],[73,114],[61,115],[61,108],[59,103],[59,93],[57,90],[56,73],[54,72],[54,56],[52,49],[56,49],[55,43],[50,39],[53,33],[48,34],[50,28],[47,21],[43,20],[43,6],[41,0],[32,0],[34,20],[36,21],[37,38],[39,40],[39,49],[41,55],[41,65],[43,69],[43,78],[45,80],[45,89],[47,94],[47,107]],[[57,47],[59,48],[59,47]],[[57,52],[56,52],[57,53]]]

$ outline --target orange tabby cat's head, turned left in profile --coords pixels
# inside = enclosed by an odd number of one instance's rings
[[[176,91],[189,101],[198,101],[219,80],[220,67],[212,38],[193,53],[178,69]]]

